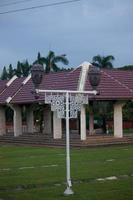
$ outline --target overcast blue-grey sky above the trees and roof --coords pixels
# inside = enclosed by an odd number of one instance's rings
[[[0,12],[63,0],[0,0]],[[114,66],[133,64],[133,0],[81,0],[30,11],[0,14],[0,69],[38,51],[66,54],[69,67],[92,57],[113,55]]]

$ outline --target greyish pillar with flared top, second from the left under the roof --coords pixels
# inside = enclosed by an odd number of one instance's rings
[[[18,105],[10,105],[14,111],[13,115],[13,127],[14,127],[14,136],[17,137],[22,135],[22,114],[21,107]]]

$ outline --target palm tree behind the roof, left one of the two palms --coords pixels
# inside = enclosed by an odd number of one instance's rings
[[[56,56],[53,51],[49,51],[47,57],[41,57],[40,53],[38,53],[37,60],[34,62],[39,64],[45,64],[45,72],[49,73],[50,71],[59,71],[57,63],[63,63],[64,65],[68,65],[69,61],[66,58],[65,54]]]

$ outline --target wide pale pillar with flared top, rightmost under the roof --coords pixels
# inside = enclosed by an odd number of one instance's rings
[[[117,102],[114,104],[114,136],[123,137],[123,115],[122,107],[124,103]]]

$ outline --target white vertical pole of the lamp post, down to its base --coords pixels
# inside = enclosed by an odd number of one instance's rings
[[[69,93],[66,92],[66,179],[67,188],[64,192],[65,196],[72,195],[72,183],[70,175],[70,135],[69,135]]]

